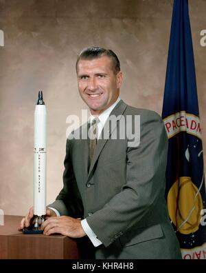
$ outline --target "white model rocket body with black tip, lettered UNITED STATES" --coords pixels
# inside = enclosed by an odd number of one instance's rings
[[[46,214],[47,111],[42,92],[34,111],[34,215]]]

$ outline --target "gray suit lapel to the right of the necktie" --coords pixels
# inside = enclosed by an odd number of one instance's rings
[[[126,103],[124,103],[124,101],[119,101],[119,103],[117,103],[117,105],[115,106],[115,108],[112,110],[111,115],[114,115],[115,117],[117,117],[117,121],[119,119],[121,119],[121,116],[122,114],[124,113],[124,110],[126,109]],[[104,125],[104,128],[109,128],[109,119],[107,119],[105,125]],[[104,128],[102,129],[102,132],[104,131]],[[89,168],[89,173],[88,173],[88,177],[87,177],[87,180],[90,179],[90,176],[91,176],[91,172],[94,168],[94,165],[96,163],[96,161],[98,160],[98,157],[100,156],[100,153],[102,152],[102,149],[104,148],[104,145],[106,144],[106,142],[108,141],[108,139],[110,139],[110,136],[112,134],[112,132],[117,128],[117,123],[115,124],[114,128],[111,128],[108,130],[106,136],[108,136],[106,139],[103,138],[102,136],[102,139],[99,139],[98,140],[98,143],[97,143],[97,146],[96,146],[96,149],[95,149],[95,154],[93,156],[93,160],[91,161],[91,165],[90,165],[90,168]]]

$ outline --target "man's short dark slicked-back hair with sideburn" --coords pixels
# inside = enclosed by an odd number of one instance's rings
[[[96,46],[91,46],[89,48],[84,48],[79,54],[78,59],[76,61],[76,70],[78,68],[78,62],[80,59],[84,60],[92,60],[97,59],[102,56],[107,56],[111,58],[112,61],[112,69],[115,74],[117,74],[120,71],[120,63],[117,55],[112,50],[107,50],[105,48],[98,48]]]

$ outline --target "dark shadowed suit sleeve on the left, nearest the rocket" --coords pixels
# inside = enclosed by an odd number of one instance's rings
[[[74,218],[83,217],[82,199],[78,190],[75,176],[73,174],[73,166],[71,163],[71,140],[67,139],[65,171],[63,173],[63,188],[56,197],[56,201],[49,207],[55,208],[60,215],[67,215]]]

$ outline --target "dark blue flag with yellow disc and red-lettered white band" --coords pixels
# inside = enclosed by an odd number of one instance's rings
[[[206,259],[203,145],[187,0],[174,0],[162,117],[170,220],[183,259]]]

